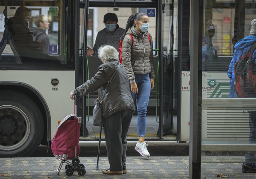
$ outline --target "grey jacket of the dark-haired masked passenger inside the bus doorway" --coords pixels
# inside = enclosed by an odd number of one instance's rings
[[[114,32],[114,34],[111,34],[109,31],[107,31],[106,28],[99,31],[93,46],[93,50],[95,51],[94,55],[98,56],[98,49],[102,45],[114,46],[114,48],[116,48],[116,50],[118,51],[119,38],[122,36],[124,31],[125,29],[120,28],[118,24],[116,25],[116,31]]]

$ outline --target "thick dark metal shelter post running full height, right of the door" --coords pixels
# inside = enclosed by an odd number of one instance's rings
[[[202,0],[190,6],[190,138],[189,178],[201,178],[201,105],[202,105]]]

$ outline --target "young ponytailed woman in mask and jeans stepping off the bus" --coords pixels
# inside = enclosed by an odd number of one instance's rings
[[[130,80],[131,96],[136,106],[138,100],[138,142],[135,146],[140,155],[149,157],[145,143],[147,105],[150,90],[154,88],[155,71],[153,65],[152,36],[148,33],[149,17],[143,12],[131,15],[125,32],[120,40],[122,44],[123,65]],[[131,36],[133,42],[131,43]]]

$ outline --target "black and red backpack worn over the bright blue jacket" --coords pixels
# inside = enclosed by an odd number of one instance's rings
[[[245,53],[236,63],[234,68],[235,90],[240,98],[256,96],[256,64],[252,59],[256,44]]]

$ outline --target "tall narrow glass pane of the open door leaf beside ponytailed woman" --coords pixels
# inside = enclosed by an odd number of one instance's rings
[[[178,3],[175,1],[175,11],[177,10]],[[163,135],[177,133],[176,116],[173,117],[173,75],[174,75],[174,61],[173,61],[173,4],[165,3],[162,11],[162,39],[163,39],[163,61],[160,69],[163,70]],[[159,75],[159,74],[158,74]],[[157,80],[160,81],[159,76]],[[176,105],[175,105],[176,106]],[[176,113],[175,113],[176,114]],[[174,125],[175,124],[175,125]]]

